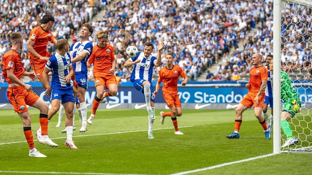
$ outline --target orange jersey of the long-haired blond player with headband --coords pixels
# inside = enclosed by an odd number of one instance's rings
[[[110,69],[112,68],[113,61],[115,61],[114,47],[106,44],[104,48],[98,45],[93,47],[88,63],[93,63],[93,75],[97,77],[111,74]]]

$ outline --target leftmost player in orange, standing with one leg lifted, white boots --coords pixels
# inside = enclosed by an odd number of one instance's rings
[[[32,86],[22,81],[22,76],[28,76],[35,79],[34,73],[25,72],[22,66],[21,55],[19,54],[23,46],[23,37],[20,32],[11,34],[11,49],[3,56],[3,77],[6,79],[9,87],[7,89],[7,99],[18,113],[23,122],[24,134],[30,148],[30,157],[46,157],[36,148],[32,136],[31,117],[26,105],[40,110],[39,121],[42,128],[42,137],[39,142],[51,147],[58,145],[53,143],[48,137],[48,105],[39,96],[32,91]]]

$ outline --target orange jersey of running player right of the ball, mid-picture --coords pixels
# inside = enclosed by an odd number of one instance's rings
[[[159,71],[158,82],[163,82],[163,94],[165,93],[178,93],[178,79],[186,77],[185,72],[176,65],[173,65],[172,69],[163,67]]]

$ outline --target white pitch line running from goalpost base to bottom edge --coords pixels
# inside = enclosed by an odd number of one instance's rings
[[[235,164],[235,163],[247,162],[247,161],[251,161],[251,160],[255,160],[255,159],[259,159],[259,158],[265,158],[265,157],[269,157],[269,156],[273,156],[273,155],[275,155],[275,153],[266,154],[266,155],[262,155],[262,156],[257,156],[257,157],[253,157],[253,158],[247,158],[247,159],[238,160],[238,161],[234,161],[234,162],[222,163],[222,164],[219,164],[219,165],[214,165],[214,166],[206,167],[206,168],[200,168],[200,169],[195,169],[195,170],[190,170],[190,171],[183,171],[183,172],[174,173],[174,174],[171,174],[171,175],[183,175],[183,174],[188,174],[188,173],[196,173],[196,172],[199,172],[199,171],[205,171],[205,170],[210,170],[210,169],[214,169],[214,168],[220,168],[220,167],[227,166],[227,165],[232,165],[232,164]]]

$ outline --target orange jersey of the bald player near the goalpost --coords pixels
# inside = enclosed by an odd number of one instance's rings
[[[268,80],[268,70],[264,66],[252,67],[249,71],[249,89],[248,93],[257,94],[260,90],[262,80]],[[265,91],[263,91],[263,94]]]

